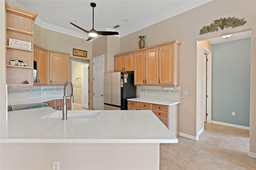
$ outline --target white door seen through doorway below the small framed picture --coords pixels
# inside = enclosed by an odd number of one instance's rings
[[[81,66],[81,106],[89,109],[89,65]]]

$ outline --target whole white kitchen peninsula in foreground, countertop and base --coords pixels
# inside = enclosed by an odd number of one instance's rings
[[[159,143],[178,142],[152,111],[100,111],[78,119],[68,111],[65,121],[42,118],[54,112],[8,113],[1,122],[1,168],[51,169],[58,161],[62,170],[159,169]]]

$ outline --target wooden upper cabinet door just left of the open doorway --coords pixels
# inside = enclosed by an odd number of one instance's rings
[[[50,84],[64,85],[68,80],[68,55],[50,52]]]

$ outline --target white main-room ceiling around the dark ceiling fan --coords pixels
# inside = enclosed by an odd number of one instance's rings
[[[142,28],[186,12],[211,0],[6,0],[10,4],[38,13],[35,24],[78,38],[86,39],[88,34],[70,24],[85,30],[92,29],[91,2],[94,8],[94,29],[117,31],[118,37],[126,36]],[[123,19],[128,22],[122,22]],[[121,27],[114,29],[113,26]],[[95,39],[95,38],[94,38]],[[93,40],[94,40],[93,39]]]

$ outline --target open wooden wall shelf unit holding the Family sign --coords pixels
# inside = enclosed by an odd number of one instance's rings
[[[32,87],[33,24],[37,13],[8,3],[5,4],[5,8],[6,81],[8,87]]]

